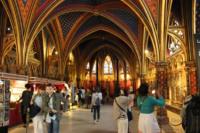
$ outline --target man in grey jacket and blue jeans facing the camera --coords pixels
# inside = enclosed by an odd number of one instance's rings
[[[49,96],[47,103],[48,111],[46,116],[48,133],[60,133],[60,119],[62,116],[61,103],[63,102],[63,111],[66,111],[66,99],[61,93],[55,93],[51,84],[48,84],[46,91]]]

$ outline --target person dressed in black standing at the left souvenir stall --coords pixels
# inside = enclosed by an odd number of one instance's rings
[[[26,118],[27,118],[28,110],[30,109],[30,102],[33,95],[33,92],[31,91],[32,89],[31,84],[26,84],[25,88],[26,90],[22,92],[22,96],[18,100],[18,102],[21,101],[21,117],[24,123],[24,127],[26,127],[26,123],[27,123]]]

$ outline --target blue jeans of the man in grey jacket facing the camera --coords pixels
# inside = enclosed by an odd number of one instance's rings
[[[55,120],[51,120],[51,123],[48,123],[48,133],[59,133],[60,128],[60,120],[56,118]]]

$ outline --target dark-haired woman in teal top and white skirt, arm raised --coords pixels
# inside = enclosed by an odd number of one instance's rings
[[[137,97],[137,106],[140,111],[138,122],[138,133],[160,133],[157,119],[154,115],[154,107],[165,105],[163,97],[159,91],[156,97],[148,95],[149,85],[142,83],[139,87],[139,96]]]

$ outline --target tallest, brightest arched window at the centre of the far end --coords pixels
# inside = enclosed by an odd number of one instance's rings
[[[110,56],[106,56],[104,61],[104,74],[112,74],[113,66]]]

